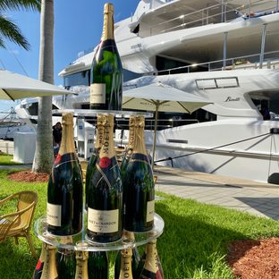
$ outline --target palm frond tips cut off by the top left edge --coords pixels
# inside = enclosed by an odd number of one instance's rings
[[[41,0],[0,0],[0,10],[38,10],[40,11]]]

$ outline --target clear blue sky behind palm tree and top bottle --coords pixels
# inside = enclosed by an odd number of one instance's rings
[[[55,0],[55,84],[63,84],[58,72],[77,58],[84,50],[95,47],[103,28],[103,8],[107,1]],[[121,21],[135,11],[138,0],[114,0],[114,21]],[[38,79],[39,13],[7,12],[6,16],[20,28],[31,45],[30,51],[5,41],[7,49],[0,48],[0,68],[27,74]],[[24,70],[23,70],[24,69]],[[0,101],[0,111],[15,103]]]

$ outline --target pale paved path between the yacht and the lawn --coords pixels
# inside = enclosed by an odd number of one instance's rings
[[[279,185],[156,167],[156,190],[279,220]]]

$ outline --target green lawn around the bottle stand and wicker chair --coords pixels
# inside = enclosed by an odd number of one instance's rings
[[[7,179],[10,172],[0,171],[0,199],[20,190],[34,190],[39,197],[34,219],[45,215],[47,183],[11,182]],[[156,201],[156,213],[165,220],[165,231],[157,240],[157,249],[168,279],[233,278],[224,258],[227,244],[276,236],[279,232],[279,223],[271,219],[160,192],[156,194],[164,198]],[[1,215],[7,210],[1,208]],[[42,243],[34,231],[32,240],[39,256]],[[109,256],[113,261],[114,254]],[[31,258],[25,239],[20,240],[19,246],[13,239],[1,243],[0,258],[0,278],[3,279],[30,279],[38,260]]]

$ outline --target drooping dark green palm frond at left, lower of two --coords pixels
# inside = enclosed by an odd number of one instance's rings
[[[27,39],[24,38],[24,36],[21,34],[21,30],[13,23],[13,21],[10,21],[2,14],[0,14],[0,27],[0,47],[1,38],[8,38],[15,44],[25,48],[26,50],[30,49],[30,44],[28,43]]]

